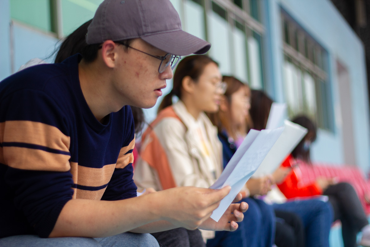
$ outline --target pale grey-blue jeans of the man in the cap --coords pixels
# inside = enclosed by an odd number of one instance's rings
[[[121,233],[104,238],[61,237],[40,238],[36,235],[20,235],[0,238],[0,247],[152,247],[158,242],[150,234]]]

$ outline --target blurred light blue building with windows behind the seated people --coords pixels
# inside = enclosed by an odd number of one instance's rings
[[[183,29],[212,43],[209,56],[223,74],[286,102],[289,117],[304,113],[316,121],[314,161],[369,172],[367,2],[171,1]],[[35,57],[52,62],[59,40],[91,19],[101,2],[0,0],[0,80]],[[171,81],[164,93],[170,90]],[[155,112],[145,111],[147,121]]]

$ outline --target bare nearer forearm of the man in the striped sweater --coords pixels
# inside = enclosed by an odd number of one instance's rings
[[[161,220],[158,204],[152,202],[158,200],[152,197],[156,195],[119,201],[70,200],[63,207],[49,237],[113,236]],[[145,227],[142,228],[144,231]]]

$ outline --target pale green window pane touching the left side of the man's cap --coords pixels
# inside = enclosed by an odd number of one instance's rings
[[[95,11],[103,0],[63,0],[63,34],[67,36],[77,27],[94,17]]]

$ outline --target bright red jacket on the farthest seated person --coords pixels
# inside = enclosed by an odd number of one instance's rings
[[[281,166],[290,167],[293,162],[294,158],[290,154],[286,160],[283,161]],[[286,198],[316,196],[322,194],[321,188],[316,183],[301,186],[299,184],[301,177],[302,174],[300,173],[298,165],[292,169],[281,184],[277,185]]]

